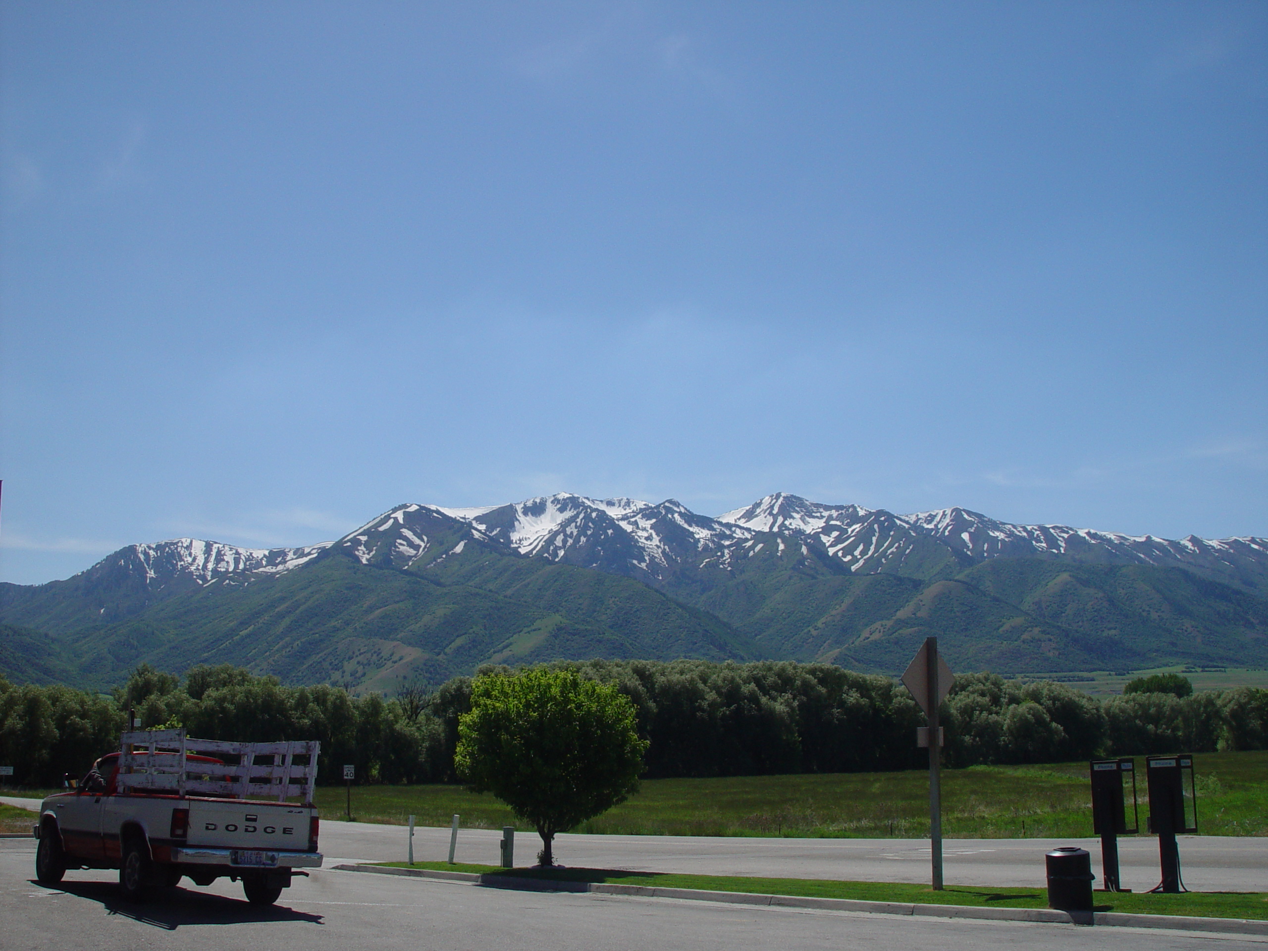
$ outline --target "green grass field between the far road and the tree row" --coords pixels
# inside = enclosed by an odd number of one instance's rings
[[[1198,831],[1268,836],[1268,752],[1200,753]],[[973,766],[942,773],[942,827],[952,838],[1090,836],[1087,763]],[[1140,824],[1148,812],[1139,790]],[[344,815],[344,790],[323,786],[327,820]],[[460,786],[354,786],[361,822],[467,828],[515,825],[510,809]],[[928,834],[928,773],[743,776],[645,780],[640,792],[574,832],[664,836],[796,836],[919,838]]]

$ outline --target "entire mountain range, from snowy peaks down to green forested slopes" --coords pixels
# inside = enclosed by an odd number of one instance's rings
[[[107,686],[230,662],[393,691],[481,663],[701,657],[895,673],[1268,666],[1268,540],[1164,540],[773,495],[708,517],[555,495],[401,505],[297,549],[176,539],[0,585],[0,672]]]

